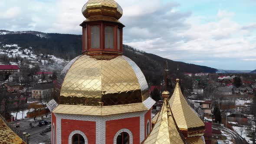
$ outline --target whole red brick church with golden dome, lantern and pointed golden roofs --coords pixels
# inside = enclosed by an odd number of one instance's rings
[[[59,75],[52,144],[205,144],[204,123],[187,104],[179,79],[151,119],[155,101],[138,65],[123,56],[123,11],[114,0],[82,7],[82,55]],[[167,71],[167,67],[166,67]]]

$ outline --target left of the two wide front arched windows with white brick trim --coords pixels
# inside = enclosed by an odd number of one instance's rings
[[[88,139],[82,131],[72,131],[69,134],[69,144],[88,144]]]

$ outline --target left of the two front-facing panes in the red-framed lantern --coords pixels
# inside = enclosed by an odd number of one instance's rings
[[[91,26],[91,48],[100,48],[100,25]]]

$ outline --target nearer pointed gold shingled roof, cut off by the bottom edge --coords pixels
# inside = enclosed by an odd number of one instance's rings
[[[154,128],[142,144],[186,144],[175,123],[167,98],[158,113]]]

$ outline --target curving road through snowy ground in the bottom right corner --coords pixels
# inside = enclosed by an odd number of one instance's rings
[[[226,133],[231,134],[233,139],[235,140],[236,144],[249,144],[243,137],[240,137],[239,134],[237,134],[235,131],[232,131],[228,128],[223,128],[220,125],[212,125],[213,128],[220,129],[221,131],[225,131]]]

